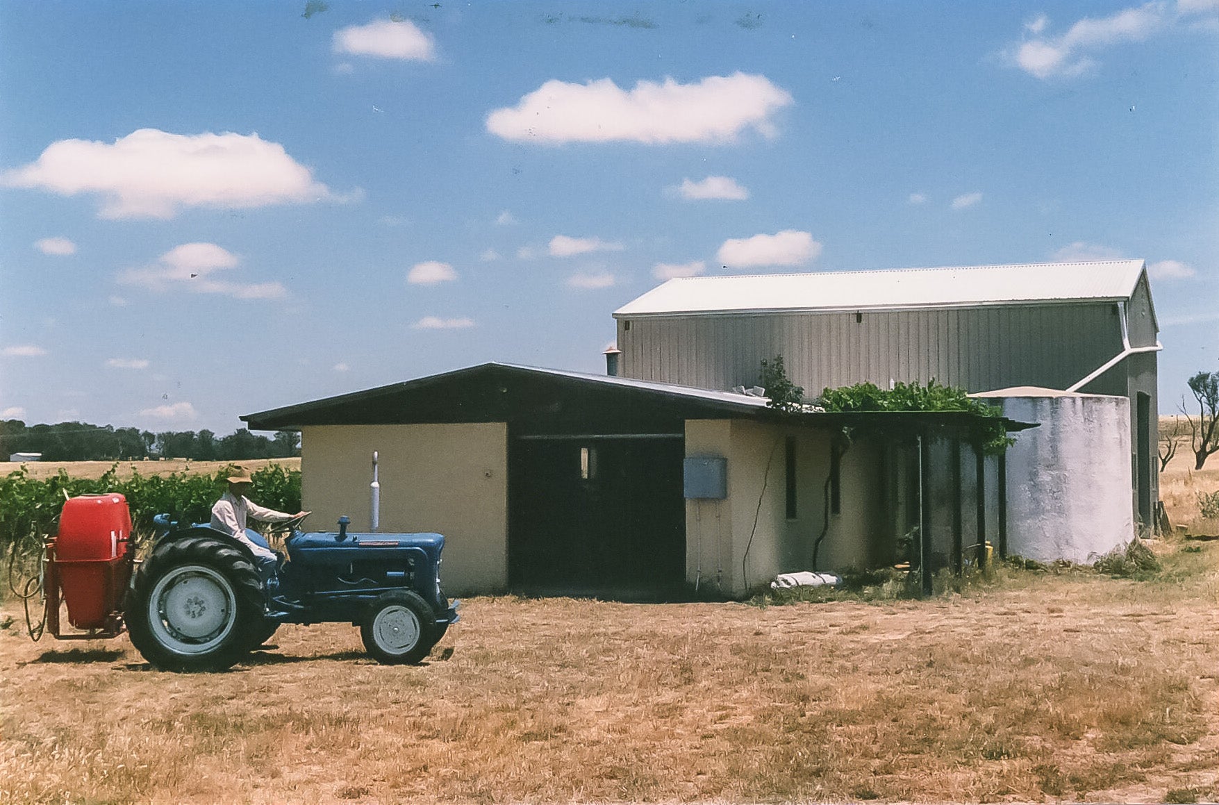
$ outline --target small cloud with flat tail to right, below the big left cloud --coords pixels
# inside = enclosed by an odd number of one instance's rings
[[[222,294],[234,299],[283,299],[288,295],[278,282],[235,283],[212,279],[217,271],[235,268],[240,259],[215,243],[184,243],[157,257],[157,262],[141,268],[126,268],[116,282],[163,293],[185,288],[196,294]]]

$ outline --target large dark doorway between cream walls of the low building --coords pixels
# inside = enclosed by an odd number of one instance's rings
[[[685,581],[684,440],[518,437],[508,579],[533,594],[668,596]]]

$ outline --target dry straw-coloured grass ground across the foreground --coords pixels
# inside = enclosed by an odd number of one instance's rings
[[[1157,550],[929,601],[474,599],[418,667],[346,624],[197,676],[12,624],[0,801],[1214,798],[1219,543]]]

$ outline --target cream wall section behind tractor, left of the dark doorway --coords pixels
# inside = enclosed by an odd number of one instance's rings
[[[301,432],[301,496],[310,527],[340,515],[366,532],[372,455],[379,454],[380,531],[445,535],[441,581],[450,595],[508,584],[508,431],[503,422],[318,426]]]

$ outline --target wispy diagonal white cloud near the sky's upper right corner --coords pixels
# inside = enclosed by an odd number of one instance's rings
[[[1140,41],[1168,22],[1168,4],[1156,0],[1108,17],[1084,17],[1061,37],[1045,38],[1041,34],[1048,21],[1041,16],[1025,26],[1039,38],[1022,43],[1014,60],[1020,70],[1037,78],[1078,76],[1096,63],[1087,51],[1121,41]]]

